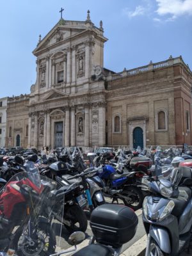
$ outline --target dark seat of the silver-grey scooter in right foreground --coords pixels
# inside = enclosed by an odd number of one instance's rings
[[[179,187],[179,196],[177,198],[171,198],[175,203],[172,214],[179,217],[184,211],[185,207],[191,198],[191,189],[186,187]]]

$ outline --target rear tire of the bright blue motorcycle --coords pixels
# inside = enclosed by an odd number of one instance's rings
[[[127,186],[121,193],[124,196],[129,196],[130,199],[122,198],[124,204],[131,207],[134,211],[140,209],[143,204],[143,193],[136,186]]]

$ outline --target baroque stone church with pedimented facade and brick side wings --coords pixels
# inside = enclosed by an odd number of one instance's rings
[[[182,57],[115,73],[102,21],[60,21],[39,40],[36,83],[8,97],[7,147],[191,145],[192,73]]]

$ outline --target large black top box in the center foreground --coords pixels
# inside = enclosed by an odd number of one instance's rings
[[[134,237],[138,217],[134,211],[118,204],[103,204],[95,208],[90,226],[97,243],[118,248]]]

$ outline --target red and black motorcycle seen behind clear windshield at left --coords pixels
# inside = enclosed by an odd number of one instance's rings
[[[42,214],[42,196],[44,186],[31,162],[28,162],[26,172],[14,175],[1,189],[1,250],[12,248],[19,256],[55,252],[56,238],[51,223]]]

